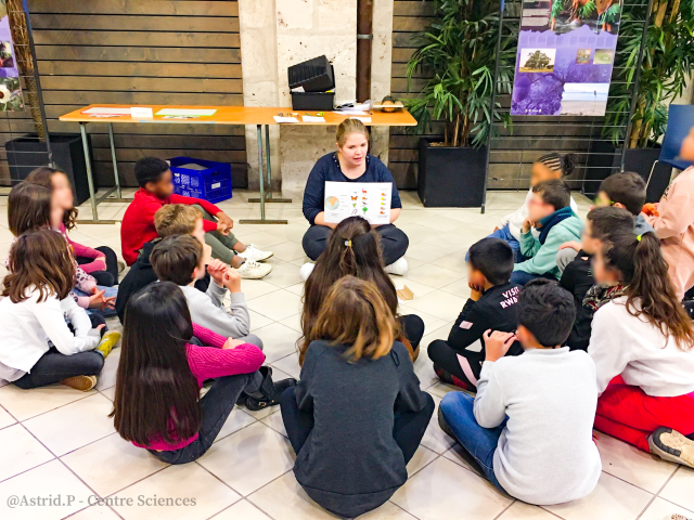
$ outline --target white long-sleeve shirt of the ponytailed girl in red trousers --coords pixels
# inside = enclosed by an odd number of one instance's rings
[[[680,350],[644,316],[631,315],[626,303],[626,296],[616,298],[593,316],[588,353],[595,362],[597,391],[621,375],[627,385],[653,396],[694,392],[694,349]]]

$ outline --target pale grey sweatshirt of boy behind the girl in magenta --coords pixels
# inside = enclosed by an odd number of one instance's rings
[[[250,332],[250,315],[243,292],[230,295],[229,310],[231,314],[229,314],[222,304],[227,288],[219,287],[214,280],[209,282],[207,292],[202,292],[189,285],[180,287],[188,302],[193,323],[209,328],[220,336],[233,339],[241,339]]]

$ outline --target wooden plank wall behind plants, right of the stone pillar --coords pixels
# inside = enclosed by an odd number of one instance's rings
[[[506,5],[510,5],[506,3]],[[516,10],[517,11],[517,10]],[[519,12],[519,11],[518,11]],[[407,62],[414,51],[412,36],[424,30],[432,22],[434,2],[422,0],[398,0],[395,2],[393,18],[393,73],[391,90],[396,98],[404,99],[416,95],[425,78],[413,78],[407,92]],[[517,24],[512,18],[509,24]],[[509,107],[510,96],[501,96],[502,106]],[[489,165],[490,188],[522,188],[528,186],[528,177],[532,161],[550,152],[578,153],[581,162],[586,160],[586,153],[591,141],[600,128],[600,121],[594,118],[522,118],[514,117],[514,131],[501,130],[501,139],[492,143]],[[425,136],[442,135],[442,125],[434,123],[432,133]],[[529,138],[529,139],[527,139]],[[417,174],[417,143],[420,135],[409,135],[404,128],[390,130],[389,168],[396,179],[398,187],[415,188]],[[579,179],[584,176],[583,167],[570,176],[573,188],[579,188]]]

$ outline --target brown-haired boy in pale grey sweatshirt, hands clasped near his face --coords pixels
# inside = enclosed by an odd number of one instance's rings
[[[193,323],[201,327],[240,339],[262,349],[262,341],[250,334],[250,315],[241,291],[241,275],[219,260],[204,258],[203,245],[190,235],[167,236],[152,250],[150,262],[160,282],[174,282],[181,287]],[[207,272],[213,278],[207,292],[194,287]],[[223,306],[229,295],[229,310]]]

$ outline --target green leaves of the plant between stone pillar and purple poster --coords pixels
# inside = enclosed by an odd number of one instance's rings
[[[435,3],[429,26],[413,38],[417,49],[408,63],[408,92],[416,72],[433,75],[419,96],[403,100],[423,133],[433,120],[445,121],[445,144],[481,146],[487,143],[492,117],[511,125],[507,113],[491,108],[499,31],[499,0],[423,0]],[[513,64],[513,29],[504,32],[500,63]],[[500,67],[497,93],[511,93],[512,68]]]

